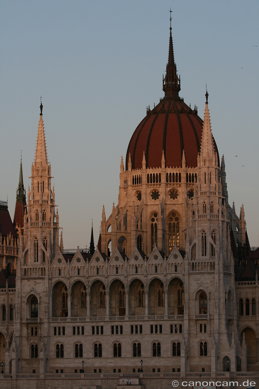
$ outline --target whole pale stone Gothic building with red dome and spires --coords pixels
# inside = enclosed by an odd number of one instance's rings
[[[0,202],[3,389],[259,383],[259,249],[243,204],[237,215],[229,203],[208,92],[203,119],[179,97],[171,27],[163,91],[121,158],[98,245],[92,229],[84,250],[63,247],[41,103],[14,221]]]

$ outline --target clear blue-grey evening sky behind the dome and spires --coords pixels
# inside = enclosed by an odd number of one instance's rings
[[[0,200],[14,215],[20,150],[28,191],[40,96],[65,248],[97,244],[117,204],[121,155],[164,95],[169,12],[180,96],[203,117],[205,85],[229,203],[259,234],[258,0],[0,2]],[[244,165],[244,166],[243,166]]]

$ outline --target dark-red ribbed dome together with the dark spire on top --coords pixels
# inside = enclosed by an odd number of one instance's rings
[[[166,167],[181,167],[183,151],[185,151],[186,166],[197,166],[203,120],[197,115],[196,108],[192,110],[179,97],[180,79],[173,56],[171,30],[170,27],[168,63],[165,79],[163,79],[165,97],[154,109],[147,110],[147,116],[134,131],[126,154],[126,170],[128,170],[129,154],[131,154],[132,169],[142,168],[143,152],[145,152],[147,168],[160,167],[163,150]],[[215,142],[214,146],[218,154]]]

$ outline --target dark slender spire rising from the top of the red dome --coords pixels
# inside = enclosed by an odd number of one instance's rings
[[[172,38],[172,16],[170,8],[170,38],[169,38],[169,53],[168,63],[166,65],[166,75],[163,77],[163,91],[165,96],[178,97],[180,91],[180,78],[178,78],[175,59],[173,55],[173,38]]]

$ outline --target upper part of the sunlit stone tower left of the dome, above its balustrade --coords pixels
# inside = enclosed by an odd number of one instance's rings
[[[58,251],[58,211],[55,213],[54,187],[51,189],[51,164],[47,158],[45,131],[40,102],[40,120],[32,163],[32,187],[28,189],[28,214],[24,216],[23,265],[44,263]]]

